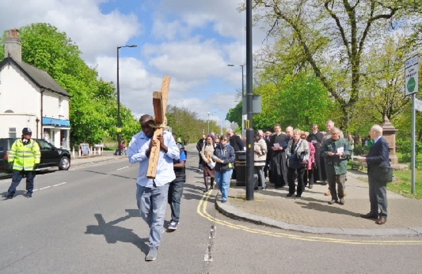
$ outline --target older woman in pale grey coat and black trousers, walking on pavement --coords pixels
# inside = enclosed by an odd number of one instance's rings
[[[306,140],[300,139],[300,129],[293,129],[292,140],[289,141],[286,149],[287,157],[287,182],[289,184],[289,194],[291,197],[295,191],[294,173],[297,173],[296,197],[301,197],[304,181],[306,180],[306,164],[309,161],[309,144]]]

